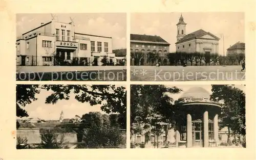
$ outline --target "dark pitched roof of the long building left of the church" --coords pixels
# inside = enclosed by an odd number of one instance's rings
[[[131,39],[131,41],[147,41],[147,42],[153,42],[153,43],[169,44],[167,41],[165,41],[160,36],[131,34],[130,39]]]

